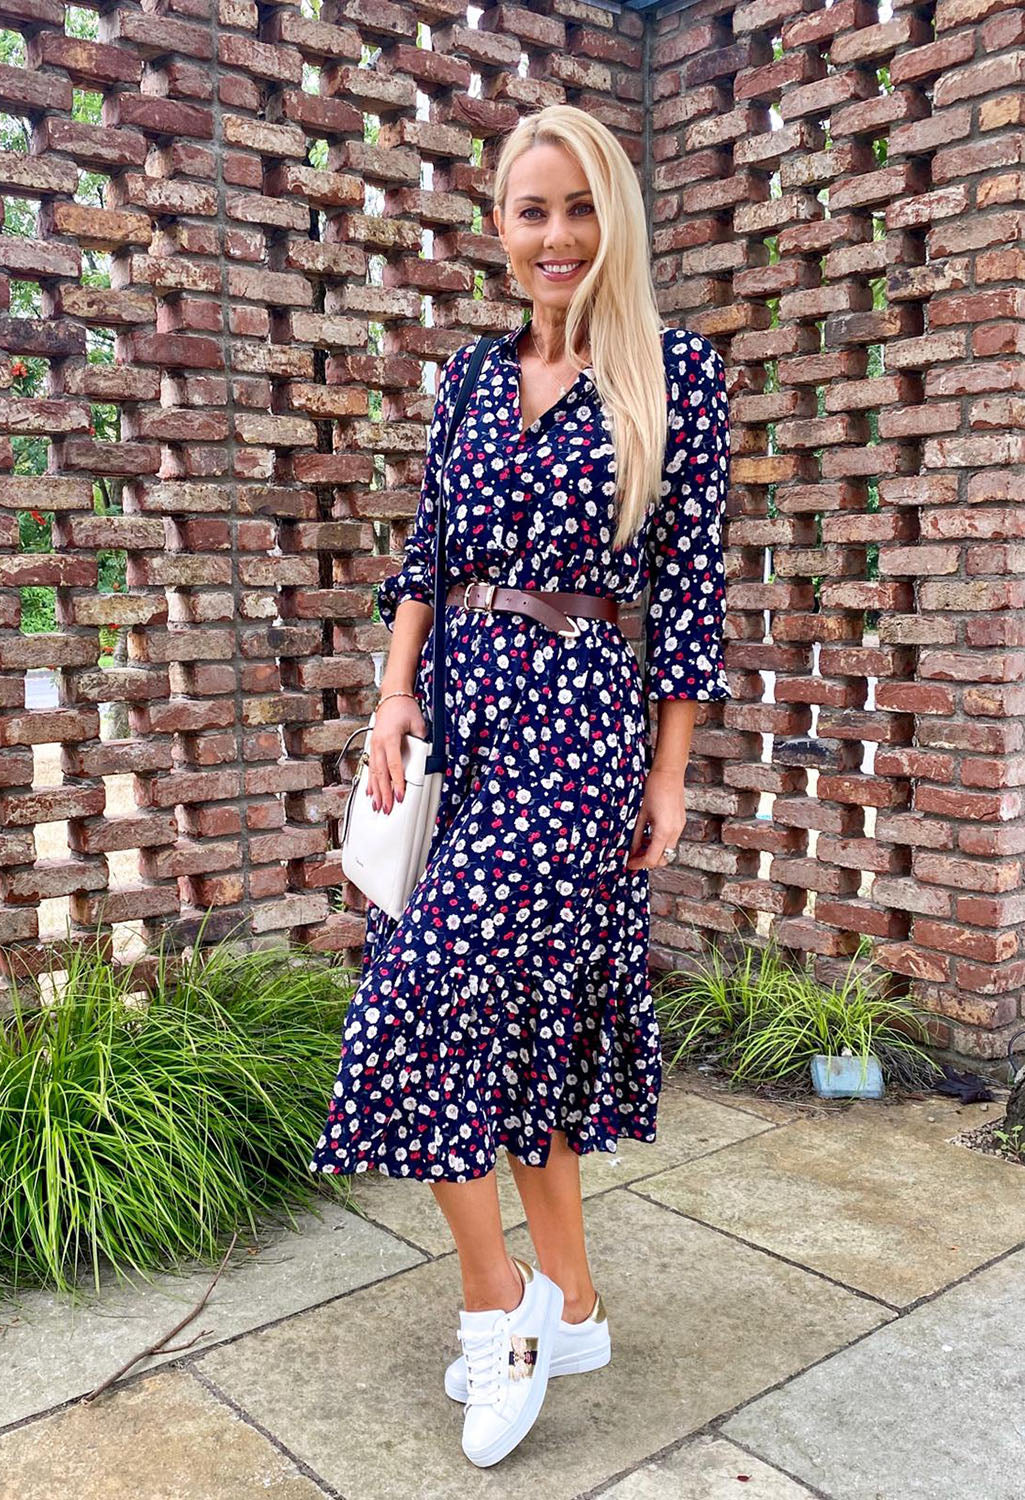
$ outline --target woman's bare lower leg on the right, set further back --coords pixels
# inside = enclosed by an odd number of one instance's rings
[[[567,1323],[582,1323],[594,1306],[596,1292],[584,1244],[581,1158],[567,1144],[563,1131],[552,1131],[543,1167],[528,1167],[512,1152],[507,1155],[537,1263],[563,1288],[563,1318]]]

